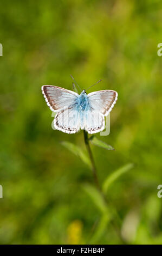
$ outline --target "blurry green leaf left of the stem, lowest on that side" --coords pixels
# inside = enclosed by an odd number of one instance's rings
[[[102,214],[108,214],[108,209],[99,190],[97,190],[94,186],[85,184],[83,185],[83,190],[86,191],[88,196],[92,199],[93,203],[97,206],[97,208],[102,212]]]

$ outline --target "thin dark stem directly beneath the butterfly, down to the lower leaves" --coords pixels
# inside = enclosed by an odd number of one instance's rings
[[[92,150],[90,149],[90,145],[89,145],[88,133],[85,130],[83,130],[83,132],[84,132],[86,148],[87,148],[87,151],[89,154],[89,159],[92,164],[92,172],[93,172],[93,176],[94,176],[94,181],[95,181],[96,187],[98,187],[98,189],[101,190],[99,180],[98,180],[97,170],[96,170],[96,166],[95,166],[95,162],[94,162],[94,158],[93,158],[93,154],[92,154]]]

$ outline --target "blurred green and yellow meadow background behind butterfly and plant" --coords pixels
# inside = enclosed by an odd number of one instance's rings
[[[162,243],[161,15],[156,0],[1,1],[0,243]],[[92,145],[100,184],[134,167],[107,189],[107,215],[92,171],[60,143],[86,154],[83,131],[51,129],[41,93],[72,89],[70,74],[119,94],[110,135],[97,135],[115,151]]]

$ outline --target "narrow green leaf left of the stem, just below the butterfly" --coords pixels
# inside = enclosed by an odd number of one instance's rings
[[[91,168],[91,163],[86,153],[78,146],[71,142],[63,141],[61,144],[71,151],[74,155],[79,156],[80,159]]]

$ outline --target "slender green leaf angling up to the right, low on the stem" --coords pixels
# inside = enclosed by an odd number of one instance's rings
[[[107,192],[109,186],[116,180],[118,179],[122,174],[128,172],[128,170],[131,170],[133,168],[134,164],[133,163],[128,163],[125,166],[119,168],[118,170],[115,170],[112,174],[110,174],[105,182],[103,183],[103,192]]]

